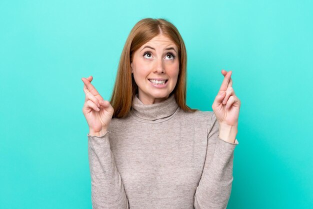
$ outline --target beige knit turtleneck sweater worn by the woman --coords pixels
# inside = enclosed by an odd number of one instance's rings
[[[212,111],[184,112],[174,95],[112,118],[88,136],[93,208],[225,208],[234,143],[218,137]]]

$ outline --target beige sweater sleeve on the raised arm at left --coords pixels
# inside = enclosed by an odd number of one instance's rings
[[[129,208],[109,143],[109,131],[88,136],[92,208]]]

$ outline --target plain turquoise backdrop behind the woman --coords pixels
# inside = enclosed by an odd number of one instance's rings
[[[241,100],[227,208],[312,208],[311,0],[1,0],[0,208],[91,208],[81,77],[109,99],[123,44],[166,18],[187,48],[187,104]]]

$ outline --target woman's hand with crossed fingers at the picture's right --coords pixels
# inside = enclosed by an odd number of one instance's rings
[[[231,80],[232,71],[221,70],[224,80],[212,104],[212,109],[221,127],[237,127],[240,100],[235,95]]]

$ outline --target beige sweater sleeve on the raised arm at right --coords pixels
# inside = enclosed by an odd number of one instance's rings
[[[233,152],[238,144],[219,138],[219,124],[214,113],[207,130],[207,150],[204,168],[193,197],[198,208],[226,208],[232,185]]]

